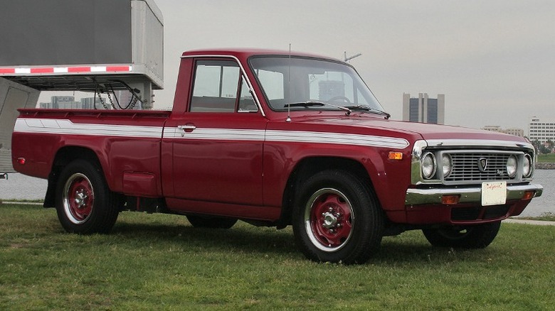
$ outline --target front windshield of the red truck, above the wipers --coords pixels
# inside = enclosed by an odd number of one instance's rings
[[[384,111],[356,71],[340,62],[284,56],[251,58],[250,65],[274,110],[337,110],[335,105]]]

